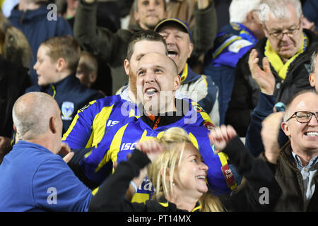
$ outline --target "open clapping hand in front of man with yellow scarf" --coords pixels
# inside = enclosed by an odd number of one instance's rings
[[[252,49],[252,52],[249,54],[249,70],[252,73],[252,78],[257,82],[259,88],[261,89],[261,93],[265,93],[267,95],[273,95],[273,91],[275,89],[275,77],[271,72],[271,66],[269,65],[269,60],[264,57],[263,58],[263,70],[258,65],[259,58],[257,57],[256,49]]]

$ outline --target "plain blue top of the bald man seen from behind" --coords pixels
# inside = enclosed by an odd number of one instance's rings
[[[90,189],[42,145],[18,141],[0,174],[0,212],[88,210]]]

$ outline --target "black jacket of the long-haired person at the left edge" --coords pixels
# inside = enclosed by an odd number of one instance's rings
[[[28,69],[16,66],[0,55],[0,136],[11,137],[14,102],[30,85]]]

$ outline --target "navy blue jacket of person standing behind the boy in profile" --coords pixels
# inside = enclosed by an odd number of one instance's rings
[[[49,37],[55,36],[73,36],[73,31],[69,23],[64,18],[57,16],[56,20],[51,20],[52,9],[47,6],[41,6],[36,10],[19,11],[18,7],[13,8],[8,20],[11,25],[23,32],[28,39],[33,53],[33,60],[30,67],[30,76],[33,84],[37,84],[37,74],[33,65],[37,59],[37,49],[40,44]]]

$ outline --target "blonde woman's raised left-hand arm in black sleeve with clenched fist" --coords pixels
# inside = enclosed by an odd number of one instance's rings
[[[137,149],[137,148],[140,148]],[[127,161],[120,162],[114,174],[100,187],[90,201],[89,211],[143,211],[144,203],[131,203],[123,198],[132,180],[138,187],[145,176],[141,173],[163,150],[156,141],[144,141],[136,144],[136,150]]]

